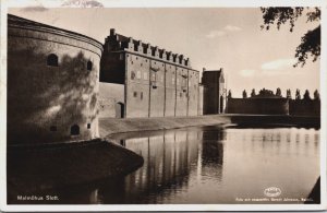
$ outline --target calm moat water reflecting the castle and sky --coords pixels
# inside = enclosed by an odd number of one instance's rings
[[[144,165],[125,177],[56,191],[61,203],[302,203],[319,177],[315,129],[217,126],[114,138]]]

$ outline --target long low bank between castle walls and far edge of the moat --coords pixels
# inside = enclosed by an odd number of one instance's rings
[[[194,126],[234,123],[240,126],[295,126],[319,128],[319,117],[270,116],[270,115],[209,115],[170,118],[101,118],[99,130],[102,138],[121,132],[174,129]]]

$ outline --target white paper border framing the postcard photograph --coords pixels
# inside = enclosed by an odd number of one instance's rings
[[[322,204],[86,204],[86,205],[8,205],[5,179],[5,120],[7,120],[7,9],[31,5],[34,0],[1,0],[1,70],[0,70],[0,210],[1,211],[310,211],[326,210],[326,48],[320,55],[320,94],[322,94],[322,127],[320,127],[320,176]],[[60,0],[39,0],[44,7],[57,8]],[[257,7],[322,7],[322,47],[327,47],[327,1],[326,0],[98,0],[106,8],[257,8]],[[325,189],[325,190],[324,190]]]

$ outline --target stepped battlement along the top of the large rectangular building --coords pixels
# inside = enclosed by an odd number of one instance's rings
[[[117,34],[114,28],[110,28],[110,35],[105,40],[104,49],[105,51],[128,50],[191,68],[190,58],[184,57],[184,55],[173,54],[171,51],[167,51],[165,48],[152,46],[149,43],[143,43],[142,40],[133,39],[133,37]]]

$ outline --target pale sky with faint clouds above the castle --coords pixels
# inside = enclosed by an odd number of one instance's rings
[[[142,39],[159,48],[190,57],[192,68],[202,71],[223,69],[227,90],[241,97],[252,88],[286,96],[291,88],[301,95],[319,90],[319,60],[293,68],[295,48],[301,37],[318,23],[305,17],[278,31],[261,29],[259,8],[97,8],[45,9],[39,4],[10,8],[11,14],[52,26],[77,32],[104,43],[110,28],[125,36]]]

